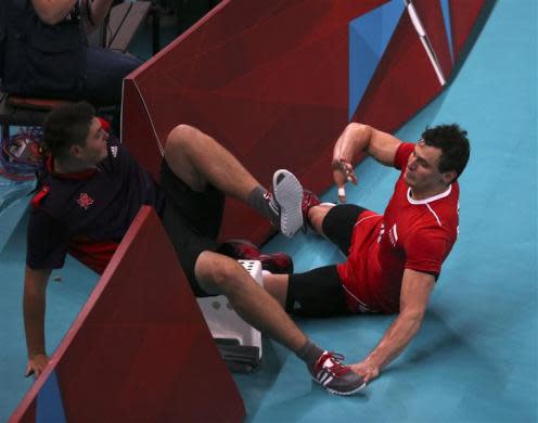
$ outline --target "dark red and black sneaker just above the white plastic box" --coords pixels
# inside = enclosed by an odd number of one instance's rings
[[[227,255],[243,260],[259,260],[261,269],[274,274],[293,273],[293,260],[285,253],[261,253],[261,251],[247,240],[228,240],[225,243]]]

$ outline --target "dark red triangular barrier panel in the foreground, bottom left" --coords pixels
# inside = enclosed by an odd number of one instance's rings
[[[26,415],[52,371],[68,422],[240,422],[245,413],[149,207],[134,219],[13,421],[31,421]]]

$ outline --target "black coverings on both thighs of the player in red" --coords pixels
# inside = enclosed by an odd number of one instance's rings
[[[332,207],[323,219],[323,233],[347,256],[355,223],[367,209],[354,204]],[[305,273],[291,274],[286,311],[303,317],[330,317],[350,313],[336,265]]]

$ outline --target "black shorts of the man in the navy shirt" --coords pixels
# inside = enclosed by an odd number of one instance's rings
[[[176,249],[181,268],[196,296],[208,296],[196,282],[194,266],[205,251],[218,252],[217,236],[222,222],[226,196],[214,187],[193,191],[179,179],[163,158],[161,187],[166,196],[163,225]]]

